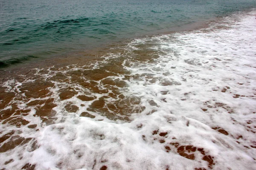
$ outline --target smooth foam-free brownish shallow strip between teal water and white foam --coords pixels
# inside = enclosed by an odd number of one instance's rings
[[[162,30],[162,31],[151,33],[151,34],[145,34],[145,35],[138,34],[135,37],[123,38],[122,40],[109,42],[104,45],[99,45],[99,47],[91,47],[90,49],[83,49],[79,51],[73,50],[70,52],[65,52],[64,54],[59,54],[59,55],[54,54],[52,57],[29,59],[28,61],[25,61],[25,62],[21,61],[20,63],[0,68],[0,71],[2,73],[5,73],[4,75],[0,75],[0,81],[2,82],[3,80],[8,79],[8,77],[9,78],[15,77],[17,74],[26,74],[28,71],[36,68],[42,69],[42,68],[49,68],[53,66],[65,67],[67,65],[73,65],[73,64],[78,64],[81,66],[83,65],[81,63],[85,64],[93,59],[99,59],[98,58],[99,56],[103,56],[104,54],[107,54],[108,51],[112,50],[113,48],[118,49],[119,46],[124,46],[134,39],[201,30],[202,28],[209,28],[209,25],[211,23],[219,21],[221,20],[221,18],[213,17],[205,21],[198,21],[196,23],[187,24],[182,27],[177,26],[174,28],[169,28],[168,31]]]

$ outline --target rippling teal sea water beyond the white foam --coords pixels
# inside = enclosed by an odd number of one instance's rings
[[[255,0],[0,0],[0,67],[255,7]]]

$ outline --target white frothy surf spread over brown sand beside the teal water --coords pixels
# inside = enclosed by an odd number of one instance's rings
[[[249,14],[3,81],[1,167],[253,170],[256,27]]]

